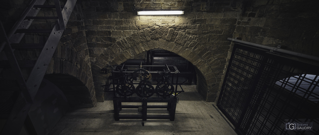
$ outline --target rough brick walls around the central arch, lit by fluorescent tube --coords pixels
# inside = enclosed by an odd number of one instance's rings
[[[78,0],[48,73],[81,80],[104,101],[108,65],[148,50],[172,51],[197,69],[197,91],[214,102],[232,43],[227,37],[319,56],[318,0]],[[184,15],[138,16],[141,10]],[[7,20],[8,21],[8,20]],[[6,22],[4,20],[4,22]],[[62,66],[61,66],[62,65]],[[66,68],[66,69],[65,69]],[[94,92],[92,92],[94,91]]]

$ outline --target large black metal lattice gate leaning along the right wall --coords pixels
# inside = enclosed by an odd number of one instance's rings
[[[237,134],[316,134],[319,67],[235,44],[217,106]],[[312,122],[312,131],[286,130]]]

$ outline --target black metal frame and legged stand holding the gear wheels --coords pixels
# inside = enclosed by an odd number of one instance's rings
[[[124,69],[124,67],[140,67],[137,70],[127,70]],[[114,105],[114,119],[115,121],[118,121],[120,119],[142,119],[143,123],[142,125],[144,125],[144,121],[146,121],[147,119],[169,119],[170,121],[174,121],[175,119],[175,110],[176,110],[176,104],[178,103],[178,98],[176,97],[176,95],[180,94],[181,92],[184,92],[184,90],[182,89],[182,86],[180,84],[178,84],[178,69],[175,66],[168,66],[168,65],[164,65],[161,66],[164,69],[166,69],[165,71],[163,71],[162,73],[167,73],[170,72],[172,73],[172,84],[175,84],[175,88],[172,87],[168,87],[168,84],[170,82],[167,81],[166,79],[166,83],[164,82],[160,82],[158,84],[161,84],[161,89],[156,89],[154,90],[154,93],[156,91],[156,95],[157,97],[155,97],[154,95],[152,96],[152,94],[143,94],[143,93],[147,93],[147,92],[152,92],[152,90],[150,88],[147,88],[146,85],[149,85],[147,83],[150,83],[150,81],[145,81],[145,78],[143,79],[142,77],[142,71],[145,72],[145,74],[148,74],[149,76],[152,76],[151,73],[155,73],[155,74],[161,74],[160,71],[147,71],[145,69],[142,68],[142,64],[141,65],[114,65],[113,69],[111,70],[112,73],[112,80],[113,80],[113,91],[114,91],[114,98],[113,98],[113,105]],[[149,68],[152,67],[154,65],[145,65],[143,67],[145,68]],[[147,72],[147,73],[146,73]],[[115,89],[115,85],[116,84],[123,84],[123,79],[119,79],[122,77],[123,74],[132,74],[131,77],[133,77],[133,74],[139,74],[138,76],[140,77],[141,82],[139,83],[139,87],[140,89],[137,89],[136,91],[134,90],[134,92],[137,93],[138,97],[134,97],[133,93],[125,93],[125,91],[130,91],[132,92],[131,88],[126,88],[125,85],[121,88],[121,90],[116,90]],[[173,83],[174,81],[174,74],[176,74],[176,82]],[[120,76],[120,77],[115,77],[115,76]],[[146,75],[145,75],[146,76]],[[123,77],[122,77],[123,78]],[[124,77],[125,78],[125,77]],[[127,81],[127,80],[124,80]],[[133,84],[133,83],[131,83]],[[165,85],[163,85],[165,84]],[[179,85],[182,89],[182,91],[177,91],[177,85]],[[143,87],[144,86],[144,87]],[[159,91],[161,91],[162,93],[159,93]],[[125,94],[122,94],[122,93]],[[116,94],[116,93],[120,93],[120,94]],[[141,94],[142,93],[142,94]],[[130,96],[126,96],[126,95],[130,95]],[[142,105],[122,105],[122,103],[142,103]],[[148,105],[148,103],[167,103],[167,105]],[[120,112],[122,111],[123,108],[131,108],[131,109],[139,109],[141,114],[138,115],[121,115]],[[147,110],[148,109],[167,109],[168,111],[168,115],[147,115]]]

